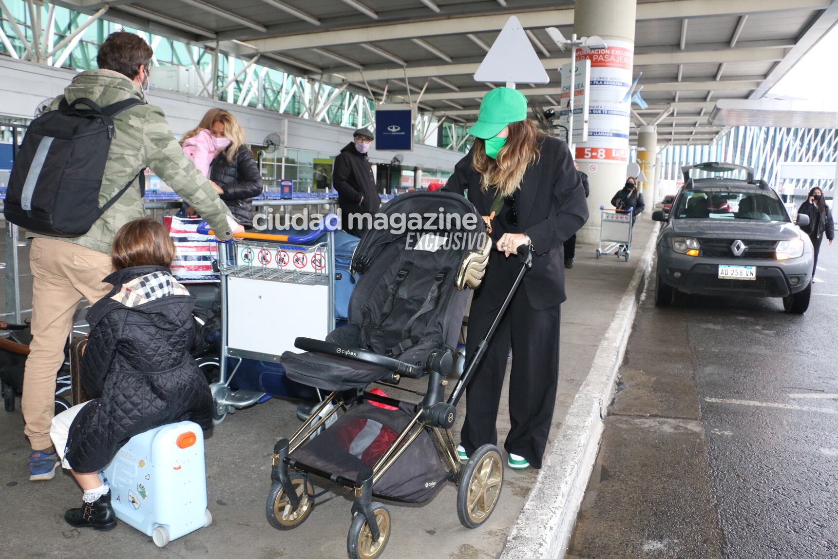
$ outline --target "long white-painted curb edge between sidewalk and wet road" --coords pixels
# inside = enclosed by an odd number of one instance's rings
[[[500,559],[546,559],[565,555],[597,458],[603,417],[614,393],[634,315],[649,279],[659,230],[660,223],[655,224],[645,246],[643,261],[620,299],[591,370],[573,398],[544,467],[512,526]]]

